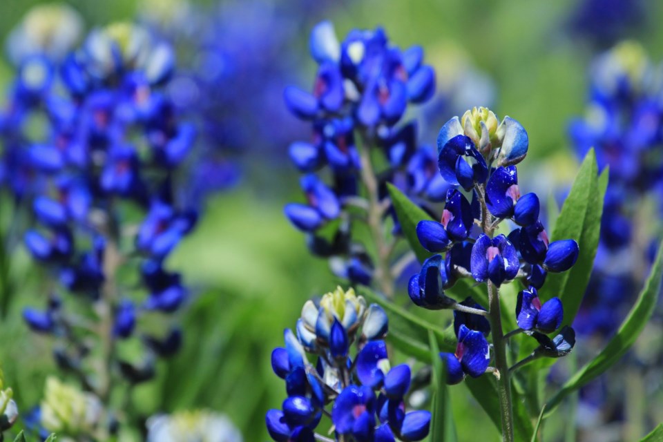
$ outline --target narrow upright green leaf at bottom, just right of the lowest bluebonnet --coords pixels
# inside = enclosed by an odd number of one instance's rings
[[[439,357],[440,349],[432,331],[428,331],[428,342],[430,343],[430,357],[433,361],[432,369],[432,411],[430,440],[439,442],[454,442],[457,440],[454,419],[451,413],[451,403],[445,380],[446,369]]]

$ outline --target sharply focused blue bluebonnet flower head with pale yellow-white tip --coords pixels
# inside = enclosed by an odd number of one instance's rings
[[[447,382],[480,376],[490,362],[490,323],[484,318],[489,312],[472,298],[459,303],[445,294],[459,278],[487,282],[489,300],[498,302],[491,302],[491,310],[499,307],[499,287],[521,280],[527,288],[518,294],[518,332],[539,341],[537,356],[562,356],[573,330],[562,329],[553,340],[546,336],[561,325],[563,309],[559,298],[542,303],[537,289],[548,272],[570,269],[579,249],[574,240],[550,242],[539,220],[539,198],[521,195],[516,164],[528,150],[525,129],[515,119],[498,122],[487,108],[474,108],[450,119],[437,144],[440,173],[457,188],[448,191],[440,222],[423,220],[416,227],[421,245],[436,254],[410,278],[408,294],[419,307],[456,310],[456,352],[441,354]],[[472,195],[471,202],[463,191]],[[504,221],[515,228],[508,236],[494,235]]]

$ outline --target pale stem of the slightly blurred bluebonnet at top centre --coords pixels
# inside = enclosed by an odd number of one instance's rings
[[[378,179],[373,170],[373,163],[371,161],[370,153],[371,143],[365,138],[361,143],[361,180],[366,187],[368,199],[368,213],[367,222],[368,228],[373,237],[376,256],[376,269],[375,280],[378,287],[387,298],[394,297],[394,277],[392,276],[392,269],[390,264],[392,247],[387,243],[385,238],[384,229],[382,225],[382,216],[384,214],[384,206],[380,202],[378,195]]]

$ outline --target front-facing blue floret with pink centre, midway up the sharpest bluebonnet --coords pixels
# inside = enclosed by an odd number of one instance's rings
[[[474,279],[490,279],[495,285],[515,278],[520,266],[515,247],[503,235],[489,238],[481,234],[472,247],[471,259]]]

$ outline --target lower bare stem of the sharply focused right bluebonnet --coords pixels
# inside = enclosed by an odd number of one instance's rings
[[[497,287],[488,281],[488,302],[490,304],[490,333],[494,347],[495,368],[499,371],[497,394],[502,423],[502,440],[513,442],[513,407],[511,401],[511,376],[506,360],[506,339],[502,332],[501,309]]]

